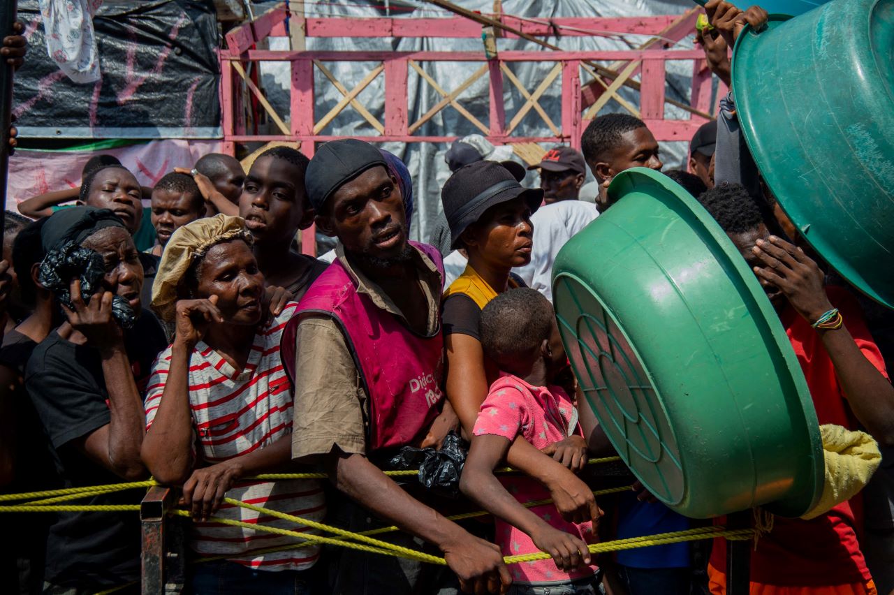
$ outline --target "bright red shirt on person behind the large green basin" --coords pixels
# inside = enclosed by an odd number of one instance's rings
[[[826,291],[857,347],[887,378],[881,353],[856,299],[845,289],[827,287]],[[780,319],[801,364],[820,424],[856,430],[856,419],[819,333],[790,306]],[[857,496],[810,521],[774,517],[772,532],[763,535],[751,553],[751,580],[803,587],[868,581],[872,577],[856,538],[856,528],[863,526],[862,513],[862,499]],[[714,541],[711,566],[725,572],[726,541]]]

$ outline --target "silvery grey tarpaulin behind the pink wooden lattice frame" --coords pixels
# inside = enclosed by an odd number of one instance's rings
[[[467,0],[457,2],[470,10],[490,13],[493,11],[492,0]],[[273,4],[258,4],[256,14],[260,14],[266,6]],[[388,8],[385,8],[385,6]],[[503,13],[531,19],[549,19],[552,17],[605,17],[605,16],[651,16],[661,14],[684,13],[691,8],[691,0],[639,0],[628,2],[626,0],[504,0]],[[372,0],[368,4],[359,0],[327,0],[321,3],[306,3],[305,11],[308,16],[350,16],[350,17],[382,17],[390,15],[394,18],[414,17],[449,17],[451,13],[444,11],[432,4],[401,2],[386,3],[384,0]],[[350,35],[350,31],[346,31]],[[546,41],[560,46],[564,50],[612,50],[630,49],[645,42],[644,36],[625,35],[618,37],[561,37],[545,38]],[[288,39],[278,38],[271,49],[288,49]],[[384,51],[468,51],[481,52],[484,55],[484,47],[481,39],[465,38],[308,38],[308,50],[384,50]],[[536,46],[522,39],[497,39],[499,51],[526,50],[543,51],[543,47]],[[679,44],[680,48],[691,49],[693,37],[684,38]],[[529,91],[544,79],[554,63],[513,63],[512,71]],[[426,63],[421,64],[434,80],[438,81],[444,90],[450,92],[460,83],[466,80],[474,71],[480,68],[481,63]],[[353,88],[362,80],[369,70],[375,67],[375,63],[326,63],[333,75],[346,88]],[[287,63],[264,63],[262,65],[262,84],[271,99],[277,112],[289,113],[289,98],[287,85],[290,82]],[[688,101],[691,88],[691,61],[674,61],[667,63],[667,88],[668,97]],[[582,84],[588,80],[584,77]],[[319,120],[335,105],[342,95],[333,88],[332,83],[325,76],[316,71],[315,87],[317,91],[316,119]],[[460,103],[478,120],[488,122],[488,81],[486,75],[479,79],[470,88],[466,89],[458,98]],[[524,104],[518,90],[509,80],[504,79],[504,101],[506,118],[509,121],[521,105]],[[431,88],[425,80],[422,80],[415,71],[409,71],[408,80],[408,105],[409,122],[415,122],[422,114],[436,104],[442,97]],[[638,93],[629,88],[622,88],[621,95],[638,105]],[[360,102],[379,119],[384,122],[384,76],[380,75],[359,96]],[[540,100],[546,113],[557,125],[561,124],[561,79],[556,80],[552,88],[548,89]],[[602,113],[622,111],[616,102],[609,102],[603,108]],[[665,108],[665,116],[670,118],[687,118],[687,114],[677,108],[668,105]],[[444,108],[434,118],[426,122],[419,130],[418,135],[451,136],[459,137],[467,134],[478,133],[472,123],[468,122],[460,113],[451,106]],[[364,121],[350,106],[336,117],[333,122],[322,132],[325,135],[375,135],[375,130]],[[540,119],[534,110],[531,110],[519,128],[513,135],[536,137],[552,136],[551,131]],[[400,156],[407,163],[413,177],[415,186],[416,209],[413,214],[412,236],[414,239],[427,239],[431,232],[434,217],[441,210],[440,191],[443,182],[447,180],[450,171],[443,161],[443,154],[447,149],[446,144],[433,143],[383,143],[380,145]],[[669,142],[662,144],[662,159],[666,168],[677,167],[682,164],[687,152],[686,143]],[[536,173],[529,173],[525,181],[527,186],[538,183]]]

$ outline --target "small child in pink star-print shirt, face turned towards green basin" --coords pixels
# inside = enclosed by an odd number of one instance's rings
[[[482,310],[480,332],[485,356],[500,366],[502,376],[478,413],[460,489],[496,517],[496,541],[504,556],[538,551],[552,556],[511,565],[510,593],[595,594],[600,578],[586,545],[596,541],[594,524],[602,511],[593,507],[591,519],[569,523],[553,504],[522,506],[550,498],[536,480],[493,474],[518,436],[540,450],[561,443],[555,448],[565,453],[538,453],[544,463],[566,460],[573,469],[586,463],[583,439],[571,438],[582,436],[578,411],[568,394],[551,383],[568,365],[552,305],[534,289],[510,289]]]

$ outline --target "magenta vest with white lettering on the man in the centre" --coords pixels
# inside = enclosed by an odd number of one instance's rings
[[[434,247],[409,242],[438,268]],[[326,314],[342,329],[369,399],[368,452],[415,444],[425,437],[443,400],[443,336],[440,323],[431,337],[410,331],[397,316],[358,294],[338,260],[316,278],[283,330],[283,365],[295,377],[295,337],[301,314]],[[300,398],[295,395],[295,398]]]

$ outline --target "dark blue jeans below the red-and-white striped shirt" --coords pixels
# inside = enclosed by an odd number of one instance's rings
[[[318,565],[316,565],[318,566]],[[316,595],[316,566],[309,570],[252,570],[235,562],[215,560],[192,568],[195,595]]]

